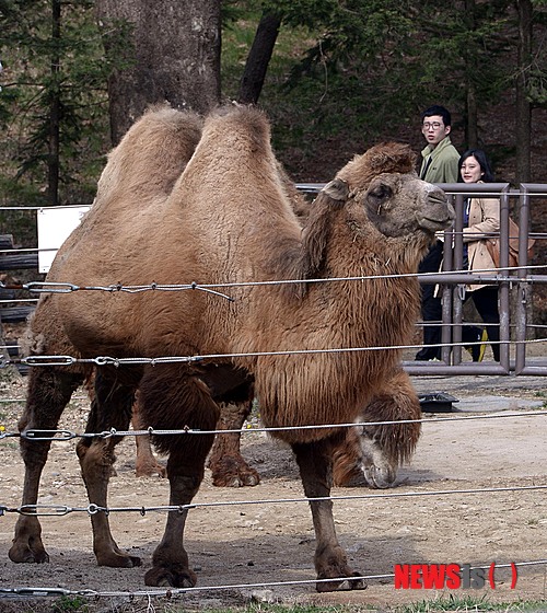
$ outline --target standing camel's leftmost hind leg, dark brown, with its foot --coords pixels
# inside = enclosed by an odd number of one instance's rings
[[[62,410],[84,373],[63,367],[35,367],[28,374],[25,410],[19,423],[26,430],[56,430]],[[47,461],[50,440],[21,438],[21,454],[25,463],[22,506],[36,505],[42,472]],[[15,524],[15,536],[9,551],[12,562],[44,563],[49,556],[42,542],[42,527],[34,514],[22,514]]]

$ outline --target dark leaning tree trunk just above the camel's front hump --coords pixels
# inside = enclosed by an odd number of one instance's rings
[[[281,18],[279,15],[263,14],[245,63],[237,102],[242,104],[256,104],[258,102],[280,25]]]

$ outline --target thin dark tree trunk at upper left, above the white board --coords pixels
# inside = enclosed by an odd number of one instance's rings
[[[51,85],[49,88],[49,139],[47,157],[48,201],[59,204],[59,122],[60,122],[60,37],[61,37],[61,0],[51,0]]]

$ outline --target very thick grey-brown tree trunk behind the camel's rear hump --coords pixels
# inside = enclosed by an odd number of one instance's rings
[[[114,143],[151,103],[198,113],[219,104],[220,0],[96,0],[96,10],[107,51],[120,23],[130,26],[129,65],[108,82]]]

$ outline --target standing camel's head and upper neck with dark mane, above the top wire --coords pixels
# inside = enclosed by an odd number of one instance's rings
[[[455,216],[444,192],[418,178],[415,163],[408,146],[379,144],[353,158],[325,185],[303,233],[310,276],[325,266],[334,227],[346,229],[358,252],[384,252],[386,261],[405,262],[407,270],[418,268],[435,232],[449,228]]]

